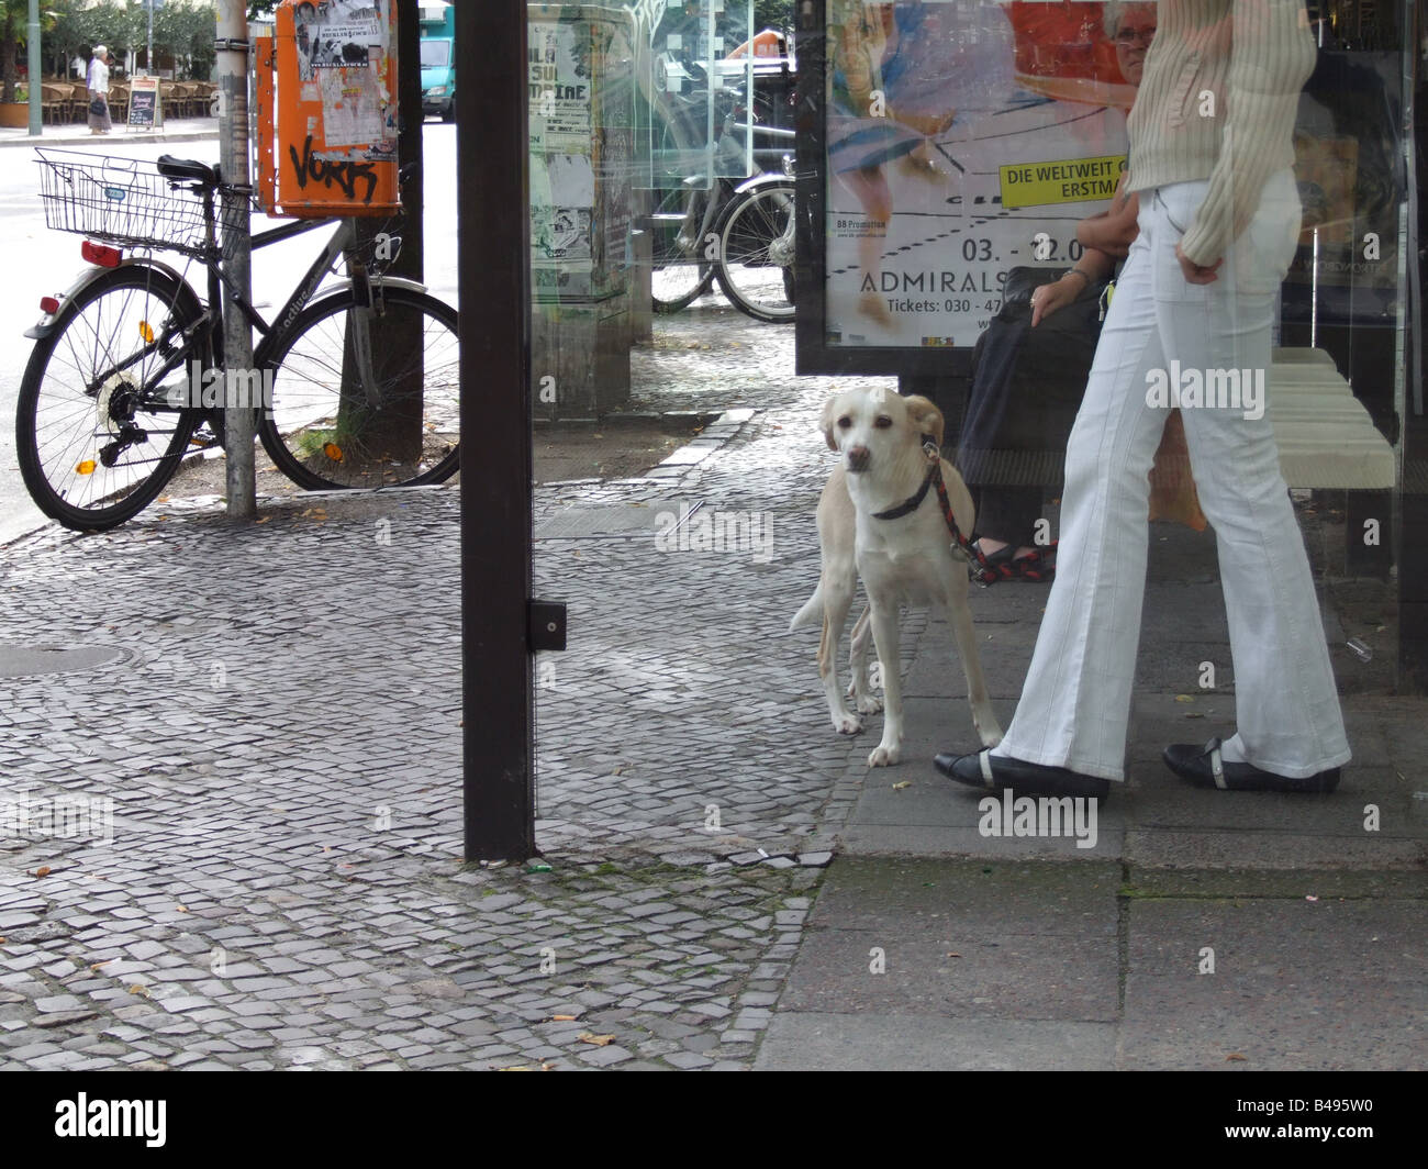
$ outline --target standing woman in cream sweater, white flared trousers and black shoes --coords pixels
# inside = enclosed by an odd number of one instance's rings
[[[1349,759],[1304,540],[1257,400],[1299,233],[1291,133],[1314,64],[1302,17],[1302,0],[1161,3],[1130,120],[1140,236],[1067,446],[1055,583],[1005,739],[938,755],[952,779],[1092,796],[1124,779],[1147,476],[1174,404],[1220,549],[1238,729],[1224,743],[1174,745],[1165,762],[1200,786],[1327,792]],[[1167,400],[1197,382],[1200,404]]]

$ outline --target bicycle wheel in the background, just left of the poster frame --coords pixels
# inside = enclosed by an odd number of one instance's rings
[[[794,264],[794,187],[777,183],[744,191],[718,226],[714,274],[735,309],[755,320],[793,320],[784,272]]]

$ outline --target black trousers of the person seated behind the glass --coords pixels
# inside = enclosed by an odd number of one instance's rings
[[[1040,283],[1047,276],[1037,274]],[[972,350],[957,469],[972,492],[977,534],[1015,547],[1035,543],[1045,489],[1064,482],[1067,439],[1101,333],[1104,286],[1087,287],[1032,329],[1030,280],[1014,287],[1012,277]]]

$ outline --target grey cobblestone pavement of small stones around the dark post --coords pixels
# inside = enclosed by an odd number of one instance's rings
[[[454,490],[246,530],[171,502],[0,553],[11,652],[119,659],[7,677],[0,1066],[750,1066],[867,750],[787,633],[830,383],[788,373],[791,329],[661,336],[637,376],[685,387],[665,409],[745,413],[698,462],[537,493],[571,630],[538,663],[548,872],[460,863]],[[771,543],[660,552],[681,503]]]

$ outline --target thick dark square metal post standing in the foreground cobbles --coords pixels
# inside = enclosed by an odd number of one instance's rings
[[[457,4],[456,47],[466,859],[523,860],[536,852],[526,4]]]

